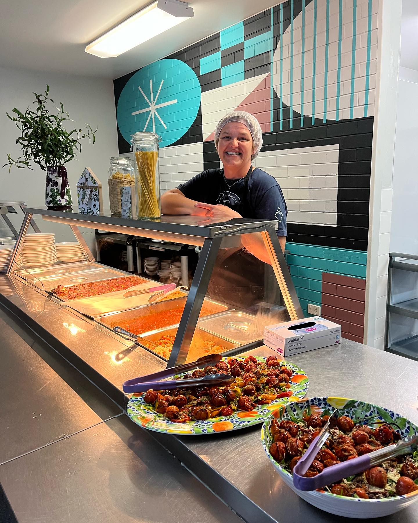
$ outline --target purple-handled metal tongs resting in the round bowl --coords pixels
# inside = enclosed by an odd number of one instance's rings
[[[318,438],[319,437],[320,436],[318,436]],[[309,449],[305,452],[304,457],[306,456],[307,452],[309,452],[314,442],[315,440],[312,441]],[[344,477],[364,472],[365,470],[371,467],[375,467],[379,463],[382,463],[388,459],[411,452],[413,447],[416,447],[417,443],[418,435],[408,436],[407,438],[403,438],[402,440],[398,441],[396,445],[390,445],[390,447],[374,450],[369,454],[363,454],[363,456],[359,456],[352,460],[332,465],[332,467],[327,467],[321,473],[313,477],[303,477],[303,474],[306,473],[307,469],[305,472],[302,472],[301,467],[299,467],[299,463],[303,460],[302,458],[296,463],[295,468],[293,469],[293,484],[296,488],[302,491],[316,490],[316,488],[321,488],[325,485],[329,485],[330,483],[336,483],[342,480]],[[312,460],[309,461],[309,464],[311,462]]]

